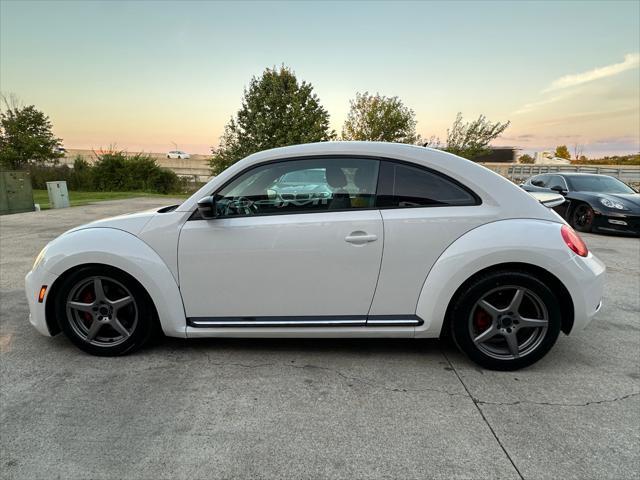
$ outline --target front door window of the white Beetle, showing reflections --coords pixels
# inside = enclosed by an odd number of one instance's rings
[[[220,217],[373,208],[378,160],[314,158],[262,165],[215,194]]]

